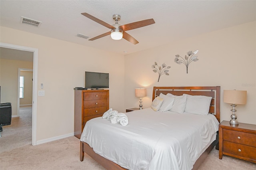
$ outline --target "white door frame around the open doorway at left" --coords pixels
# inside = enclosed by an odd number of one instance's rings
[[[1,43],[0,47],[18,49],[23,51],[31,51],[34,53],[33,59],[33,99],[32,99],[32,145],[36,145],[36,116],[37,116],[37,73],[38,73],[38,49],[32,47],[24,47],[8,43]]]

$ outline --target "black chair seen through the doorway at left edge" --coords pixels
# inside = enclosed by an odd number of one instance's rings
[[[11,125],[12,103],[0,103],[0,136],[3,131],[2,126]]]

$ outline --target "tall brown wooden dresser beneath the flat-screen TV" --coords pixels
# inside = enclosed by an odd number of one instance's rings
[[[80,138],[85,123],[108,109],[109,90],[75,90],[74,135]]]

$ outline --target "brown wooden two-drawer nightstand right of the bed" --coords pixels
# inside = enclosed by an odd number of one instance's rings
[[[219,158],[223,155],[256,163],[256,125],[230,125],[229,121],[222,121],[219,125]]]

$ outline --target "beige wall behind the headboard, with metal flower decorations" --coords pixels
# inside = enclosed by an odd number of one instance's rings
[[[185,65],[174,63],[175,55],[185,56],[199,50],[198,61]],[[170,75],[152,71],[154,62],[171,66]],[[247,104],[236,107],[238,121],[256,124],[256,22],[226,28],[178,42],[151,48],[125,56],[125,107],[138,107],[134,89],[146,87],[142,99],[150,107],[153,86],[221,86],[220,119],[230,120],[231,106],[223,103],[224,89],[247,91]]]

